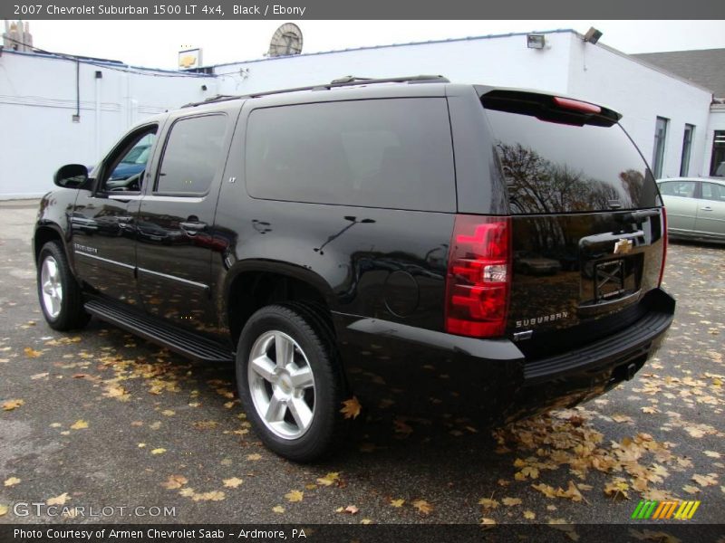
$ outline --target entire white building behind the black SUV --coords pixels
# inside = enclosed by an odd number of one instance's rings
[[[3,54],[0,119],[13,130],[0,135],[0,158],[14,167],[1,170],[0,198],[42,194],[56,167],[94,163],[145,115],[217,93],[314,85],[344,75],[442,74],[455,82],[572,95],[622,113],[623,127],[660,176],[709,174],[711,135],[715,125],[725,125],[725,111],[710,112],[710,90],[602,43],[586,43],[574,31],[543,34],[543,49],[528,48],[527,34],[516,33],[237,62],[202,69],[205,77],[80,64],[80,123],[72,122],[76,62]]]

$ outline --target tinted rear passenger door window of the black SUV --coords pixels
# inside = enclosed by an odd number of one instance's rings
[[[204,194],[222,162],[227,117],[180,119],[171,127],[156,192]]]

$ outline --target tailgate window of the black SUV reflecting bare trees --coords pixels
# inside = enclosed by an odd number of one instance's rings
[[[485,98],[512,214],[659,205],[652,173],[614,119],[569,118],[556,110],[517,112],[516,104],[498,110],[497,103],[495,110]]]

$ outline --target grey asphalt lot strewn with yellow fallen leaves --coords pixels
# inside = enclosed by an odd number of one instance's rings
[[[340,451],[298,465],[250,431],[233,367],[97,319],[46,326],[35,205],[0,203],[0,523],[623,523],[640,500],[723,521],[725,246],[672,243],[674,325],[607,395],[492,432],[447,409],[441,376],[428,410],[362,397]]]

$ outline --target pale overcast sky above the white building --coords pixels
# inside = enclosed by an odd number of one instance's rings
[[[204,65],[264,56],[283,21],[31,21],[34,46],[45,51],[176,69],[179,51],[200,47]],[[725,48],[725,21],[295,21],[303,52],[391,43],[594,26],[622,52]]]

